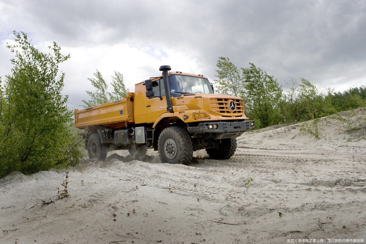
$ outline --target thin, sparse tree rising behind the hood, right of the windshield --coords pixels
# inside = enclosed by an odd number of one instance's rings
[[[243,90],[242,78],[238,68],[230,62],[228,57],[219,57],[216,66],[219,68],[219,70],[216,70],[218,79],[214,80],[219,84],[217,91],[221,94],[238,97]]]

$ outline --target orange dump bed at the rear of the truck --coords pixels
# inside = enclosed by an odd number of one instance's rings
[[[105,125],[119,128],[134,122],[134,93],[113,102],[82,110],[75,109],[75,126],[79,129]]]

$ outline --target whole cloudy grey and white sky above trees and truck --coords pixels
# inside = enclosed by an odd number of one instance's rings
[[[13,30],[71,58],[63,94],[82,108],[96,70],[126,88],[173,71],[217,74],[218,57],[257,67],[285,87],[293,77],[320,91],[366,85],[365,0],[0,0],[0,76],[11,73]]]

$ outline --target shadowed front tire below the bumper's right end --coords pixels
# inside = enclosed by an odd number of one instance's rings
[[[221,139],[219,146],[206,149],[212,159],[229,159],[236,151],[236,138]]]

